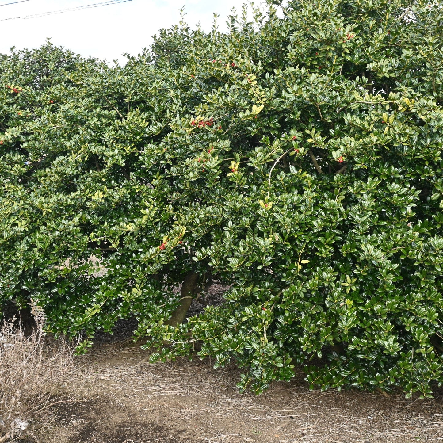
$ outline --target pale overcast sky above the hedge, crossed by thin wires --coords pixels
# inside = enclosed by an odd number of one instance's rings
[[[235,7],[241,12],[244,3],[244,0],[130,0],[38,18],[9,19],[109,0],[27,0],[4,5],[15,1],[19,0],[0,0],[0,53],[8,53],[12,46],[39,47],[50,37],[57,46],[108,62],[114,59],[124,62],[121,56],[124,52],[138,54],[143,47],[149,47],[151,36],[160,28],[179,23],[182,6],[191,27],[200,22],[209,31],[214,12],[220,14],[218,22],[222,29],[230,9]]]

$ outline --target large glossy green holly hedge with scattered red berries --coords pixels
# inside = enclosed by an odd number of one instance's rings
[[[261,392],[443,381],[443,13],[298,0],[162,30],[109,67],[0,59],[0,300]],[[98,272],[101,270],[101,272]],[[221,306],[186,319],[218,281]],[[174,290],[183,283],[181,293]],[[139,341],[140,342],[140,341]]]

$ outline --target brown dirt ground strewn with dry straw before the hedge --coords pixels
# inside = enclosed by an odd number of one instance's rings
[[[386,398],[368,392],[309,391],[300,373],[260,396],[238,392],[239,371],[210,361],[148,363],[128,348],[133,324],[78,359],[72,400],[35,431],[41,443],[443,441],[442,396]],[[30,442],[29,442],[30,443]]]

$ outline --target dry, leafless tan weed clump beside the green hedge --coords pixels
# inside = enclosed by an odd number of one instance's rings
[[[0,325],[0,442],[32,434],[31,424],[47,422],[74,370],[70,346],[46,344],[43,312],[33,306],[32,314],[31,334],[25,335],[15,319]]]

